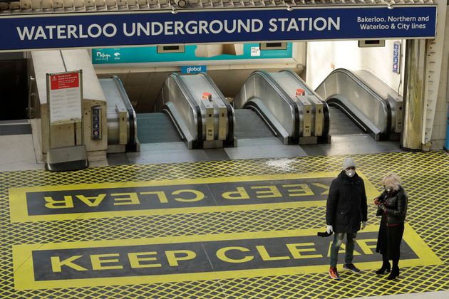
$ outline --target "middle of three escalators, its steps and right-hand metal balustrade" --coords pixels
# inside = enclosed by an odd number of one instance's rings
[[[281,140],[284,145],[316,144],[329,142],[329,111],[326,103],[319,98],[299,78],[296,73],[283,70],[278,73],[268,73],[257,70],[244,83],[236,98],[236,137],[241,132],[258,133],[266,137],[267,130],[251,130],[251,124],[239,120],[244,113],[240,110],[252,110],[264,121],[272,135]],[[241,128],[240,125],[247,125]],[[262,127],[259,125],[258,127]]]

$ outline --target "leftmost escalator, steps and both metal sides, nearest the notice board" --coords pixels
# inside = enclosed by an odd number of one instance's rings
[[[153,113],[135,114],[118,77],[100,84],[108,102],[108,152],[180,141],[189,149],[235,145],[234,111],[205,73],[169,75]]]

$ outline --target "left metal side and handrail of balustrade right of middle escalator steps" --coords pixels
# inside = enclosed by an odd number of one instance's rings
[[[243,107],[257,110],[284,145],[296,143],[299,122],[297,106],[269,73],[257,70],[245,81],[234,98],[234,108]]]

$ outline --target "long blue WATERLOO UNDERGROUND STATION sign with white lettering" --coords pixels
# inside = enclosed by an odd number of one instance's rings
[[[0,17],[0,51],[41,48],[435,38],[436,6],[42,14]]]

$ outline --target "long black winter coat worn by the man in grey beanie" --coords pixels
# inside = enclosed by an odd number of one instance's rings
[[[336,233],[355,233],[368,217],[365,183],[358,174],[342,171],[331,183],[326,204],[326,224]]]

